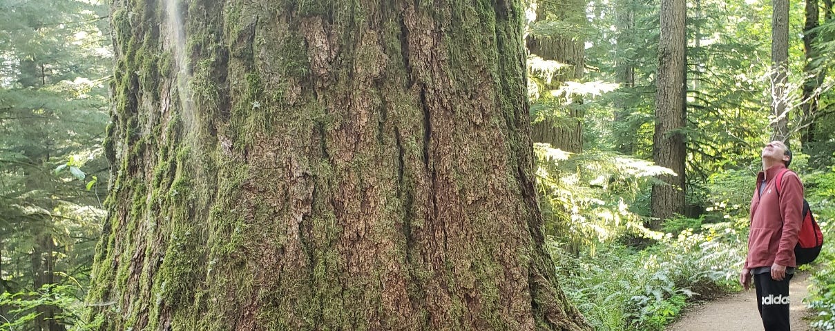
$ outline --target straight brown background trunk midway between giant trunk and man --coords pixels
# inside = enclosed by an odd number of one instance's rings
[[[664,183],[652,186],[653,228],[685,207],[686,2],[662,0],[658,43],[658,75],[655,95],[655,134],[652,158],[677,176],[661,175]]]

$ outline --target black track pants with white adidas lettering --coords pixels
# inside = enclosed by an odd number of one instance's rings
[[[762,326],[766,331],[790,331],[792,329],[788,319],[788,282],[791,274],[777,281],[772,279],[771,273],[754,275],[757,286],[757,308],[762,318]]]

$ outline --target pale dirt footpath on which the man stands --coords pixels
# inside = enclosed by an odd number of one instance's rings
[[[808,273],[799,273],[789,285],[792,298],[792,331],[807,331],[809,323],[803,318],[810,311],[802,303],[807,291]],[[669,331],[762,331],[762,321],[757,313],[756,294],[753,289],[734,293],[688,308],[684,316],[672,324]]]

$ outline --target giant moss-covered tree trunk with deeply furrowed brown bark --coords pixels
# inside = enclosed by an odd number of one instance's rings
[[[113,6],[99,329],[590,329],[543,246],[519,2],[165,5]]]

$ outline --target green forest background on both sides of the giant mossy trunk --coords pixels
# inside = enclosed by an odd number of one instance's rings
[[[596,330],[661,330],[686,303],[740,290],[750,194],[774,138],[835,236],[832,0],[691,0],[678,29],[661,23],[667,1],[524,2],[547,243]],[[785,40],[772,36],[783,6]],[[85,311],[109,304],[83,301],[111,173],[110,22],[95,0],[0,1],[0,329],[93,329]],[[676,67],[659,66],[661,41],[676,31],[685,89],[660,93]],[[772,65],[781,47],[785,69]],[[828,244],[811,267],[820,329],[835,329],[833,259]]]

